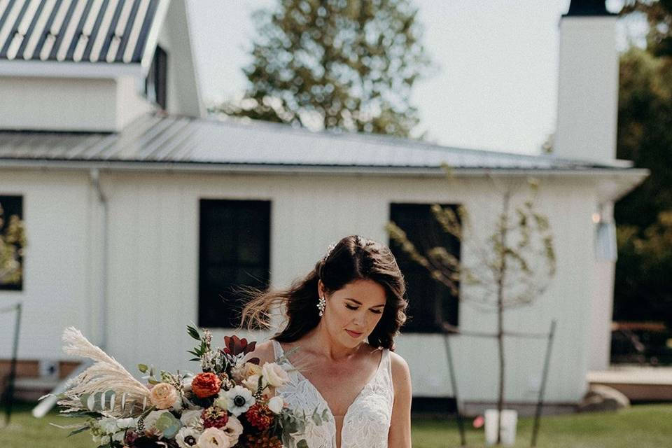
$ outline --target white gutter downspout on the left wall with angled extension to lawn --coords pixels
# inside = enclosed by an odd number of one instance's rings
[[[108,223],[108,207],[107,207],[107,197],[103,193],[103,190],[100,186],[100,171],[98,168],[92,168],[89,172],[91,184],[95,189],[98,197],[98,203],[102,206],[103,209],[103,219],[100,228],[100,232],[103,239],[102,244],[102,253],[100,260],[100,288],[99,288],[99,328],[100,330],[100,340],[99,347],[105,349],[107,345],[107,252],[108,252],[108,238],[107,238],[107,223]],[[58,400],[57,395],[66,390],[66,384],[70,379],[77,377],[80,373],[84,372],[88,367],[93,364],[92,360],[85,360],[79,365],[79,367],[74,370],[69,377],[63,379],[48,395],[45,395],[43,399],[33,408],[32,414],[34,417],[40,419],[56,405]]]

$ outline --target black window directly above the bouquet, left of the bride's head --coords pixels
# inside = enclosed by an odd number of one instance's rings
[[[237,327],[239,287],[268,287],[270,220],[269,201],[200,201],[198,325]]]

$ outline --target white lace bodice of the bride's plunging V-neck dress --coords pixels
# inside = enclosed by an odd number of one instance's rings
[[[283,355],[279,342],[273,340],[276,358]],[[390,351],[384,349],[380,364],[374,376],[362,388],[359,395],[348,407],[343,418],[341,430],[341,446],[336,446],[336,422],[334,416],[313,384],[290,363],[283,363],[290,381],[279,388],[279,395],[292,409],[304,410],[311,415],[315,409],[323,412],[326,409],[329,421],[315,425],[308,419],[306,432],[297,436],[304,438],[309,448],[387,448],[387,437],[392,418],[394,391]],[[289,448],[293,448],[292,445]]]

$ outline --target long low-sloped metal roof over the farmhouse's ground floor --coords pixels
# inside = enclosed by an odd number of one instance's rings
[[[0,167],[9,161],[134,162],[162,165],[255,165],[261,167],[369,167],[440,169],[615,170],[551,155],[522,155],[437,146],[422,141],[335,132],[310,132],[254,121],[188,118],[153,113],[122,132],[0,132]],[[157,164],[158,165],[158,164]],[[74,165],[73,165],[74,166]]]

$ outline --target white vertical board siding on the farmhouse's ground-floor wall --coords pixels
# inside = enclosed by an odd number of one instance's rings
[[[52,185],[30,187],[45,184],[50,176],[55,176]],[[53,358],[66,325],[82,328],[92,340],[99,336],[97,285],[86,279],[97,275],[92,263],[100,244],[88,241],[95,236],[87,232],[97,227],[99,207],[87,176],[74,177],[71,185],[56,186],[57,176],[25,172],[11,183],[18,186],[23,179],[25,188],[18,188],[18,193],[25,195],[31,246],[45,251],[29,251],[26,258],[27,281],[20,294],[27,297],[27,316],[32,316],[27,321],[33,323],[22,330],[22,358]],[[137,363],[169,370],[195,368],[185,361],[191,345],[185,328],[197,320],[200,199],[272,202],[271,281],[280,287],[307,273],[326,246],[340,237],[360,234],[388,241],[384,224],[391,202],[461,203],[470,209],[475,223],[491,223],[500,207],[494,199],[487,202],[485,198],[492,197],[486,195],[490,187],[477,178],[464,178],[451,188],[441,179],[383,176],[116,173],[103,174],[101,180],[109,201],[107,349],[131,370]],[[587,187],[561,180],[542,186],[538,200],[554,225],[558,273],[533,307],[507,311],[507,326],[512,330],[544,332],[552,318],[559,322],[547,389],[551,402],[575,402],[584,393],[595,275],[594,198],[587,195]],[[58,197],[63,200],[46,204],[54,191],[61,192]],[[54,207],[62,207],[63,213],[59,215],[60,209]],[[41,209],[46,211],[36,215]],[[566,214],[568,209],[573,213]],[[52,216],[62,218],[50,223]],[[50,244],[45,245],[45,239]],[[469,253],[462,256],[465,261],[470,257]],[[43,263],[41,269],[38,262]],[[68,283],[59,285],[58,278]],[[41,289],[36,289],[38,284]],[[55,290],[58,297],[54,297]],[[36,314],[41,318],[36,319]],[[463,303],[460,325],[465,330],[492,330],[494,315]],[[4,334],[7,330],[2,331],[3,337],[8,336]],[[217,338],[229,333],[215,330]],[[461,400],[492,401],[496,396],[495,342],[466,336],[451,340]],[[7,344],[0,350],[6,358]],[[507,341],[507,400],[535,400],[544,350],[545,341]],[[452,395],[440,335],[401,335],[398,353],[411,366],[416,396]]]

